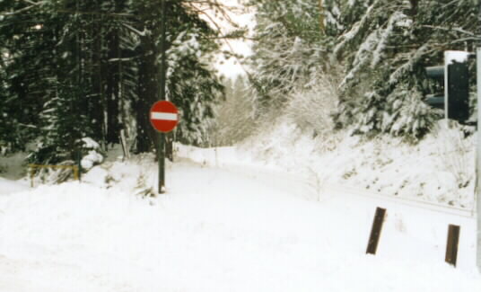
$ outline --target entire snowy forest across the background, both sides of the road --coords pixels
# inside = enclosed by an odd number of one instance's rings
[[[163,21],[165,90],[182,119],[175,138],[196,146],[235,143],[252,130],[242,121],[271,119],[294,102],[305,110],[293,113],[299,126],[315,135],[416,141],[439,119],[423,102],[432,91],[425,66],[481,42],[477,0],[240,3],[255,12],[249,36],[206,21],[206,9],[230,9],[220,0],[166,0],[164,20],[159,0],[0,1],[0,150],[57,164],[74,159],[83,138],[107,149],[123,131],[136,153],[153,151],[148,110],[161,90]],[[229,39],[253,43],[245,82],[223,80],[213,66]]]

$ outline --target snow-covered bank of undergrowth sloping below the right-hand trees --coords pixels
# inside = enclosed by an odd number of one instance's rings
[[[396,137],[367,139],[346,131],[316,137],[292,119],[264,125],[240,148],[253,160],[275,164],[312,181],[388,196],[472,209],[474,141],[440,121],[416,145]]]

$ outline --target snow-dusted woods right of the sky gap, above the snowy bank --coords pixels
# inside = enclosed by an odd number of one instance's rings
[[[417,139],[436,111],[423,102],[425,66],[479,43],[477,0],[250,0],[257,8],[253,84],[282,107],[295,90],[335,76],[337,128]]]

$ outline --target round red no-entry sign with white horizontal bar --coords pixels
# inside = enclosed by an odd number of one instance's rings
[[[177,126],[179,111],[172,102],[155,102],[150,111],[150,120],[157,131],[168,133]]]

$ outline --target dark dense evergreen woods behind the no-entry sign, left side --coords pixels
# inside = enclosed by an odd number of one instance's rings
[[[209,4],[217,8],[215,1]],[[35,143],[31,160],[73,156],[83,137],[103,148],[120,130],[153,149],[148,111],[159,99],[159,1],[0,2],[0,141]],[[220,6],[219,6],[220,8]],[[167,1],[167,98],[179,106],[180,141],[200,144],[222,96],[212,66],[217,32],[188,1]]]

